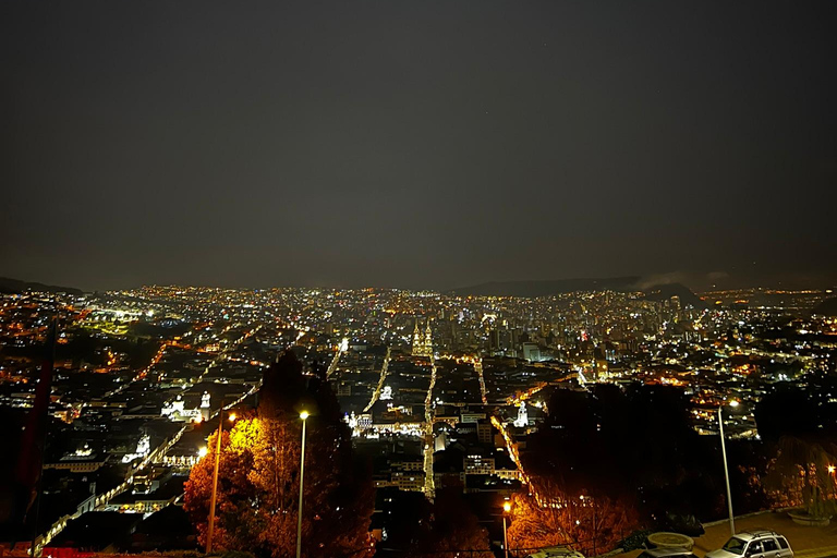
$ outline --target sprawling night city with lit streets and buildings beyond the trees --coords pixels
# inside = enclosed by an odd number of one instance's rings
[[[548,424],[556,392],[674,387],[707,438],[718,435],[718,408],[735,401],[730,440],[760,440],[755,410],[777,386],[813,389],[812,404],[837,408],[827,379],[837,318],[816,313],[830,290],[715,291],[690,303],[650,292],[145,287],[3,295],[3,407],[32,408],[37,355],[50,319],[59,320],[38,544],[72,541],[90,513],[122,513],[136,525],[182,505],[219,411],[254,408],[284,350],[304,374],[323,371],[379,494],[523,492],[532,483],[526,439]],[[385,542],[387,518],[373,524]]]

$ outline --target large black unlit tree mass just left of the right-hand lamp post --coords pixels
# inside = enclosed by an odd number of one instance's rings
[[[530,436],[521,456],[524,469],[563,494],[624,502],[645,522],[660,511],[719,517],[717,438],[698,435],[689,405],[682,390],[669,386],[559,389],[544,427]],[[689,509],[677,509],[684,502]]]

